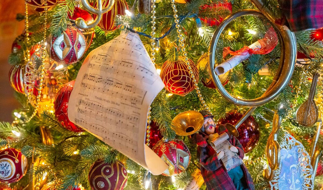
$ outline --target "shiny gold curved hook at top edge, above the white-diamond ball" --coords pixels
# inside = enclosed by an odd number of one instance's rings
[[[104,13],[106,13],[109,10],[112,9],[112,7],[114,5],[114,0],[109,0],[109,4],[104,9],[102,8],[102,0],[97,0],[98,8],[94,8],[93,6],[91,6],[87,0],[81,0],[81,3],[83,5],[83,8],[86,11],[88,11],[88,12],[90,12],[92,14],[97,14],[98,16],[91,23],[85,22],[85,20],[83,18],[77,18],[75,20],[75,24],[80,29],[91,29],[91,28],[94,28],[96,25],[99,24],[99,22],[100,22],[100,20],[102,18],[102,15]]]

